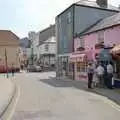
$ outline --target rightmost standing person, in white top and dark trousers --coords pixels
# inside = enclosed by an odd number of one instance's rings
[[[113,88],[113,85],[112,85],[112,78],[113,78],[113,66],[112,66],[112,62],[110,62],[107,65],[107,73],[108,73],[108,84],[107,84],[107,87],[109,89],[112,89]]]

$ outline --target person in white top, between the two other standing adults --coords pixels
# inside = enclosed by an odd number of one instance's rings
[[[104,87],[104,68],[101,63],[99,63],[96,72],[99,81],[99,87]]]

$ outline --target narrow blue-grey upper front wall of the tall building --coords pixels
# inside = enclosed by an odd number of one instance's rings
[[[68,13],[71,13],[69,23]],[[71,53],[73,51],[73,6],[56,17],[56,24],[58,54]]]

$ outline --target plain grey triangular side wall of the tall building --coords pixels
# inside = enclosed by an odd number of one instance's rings
[[[96,21],[111,16],[115,13],[116,12],[108,10],[75,6],[74,34],[83,32],[86,28],[95,24]]]

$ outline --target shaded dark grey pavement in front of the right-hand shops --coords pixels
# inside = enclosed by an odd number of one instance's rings
[[[67,79],[67,78],[64,79],[62,77],[61,78],[54,78],[54,79],[61,80],[61,81],[69,81],[74,87],[105,96],[108,99],[111,99],[120,105],[120,89],[119,88],[115,88],[115,89],[107,89],[107,88],[87,89],[87,81],[73,81],[71,79]]]

